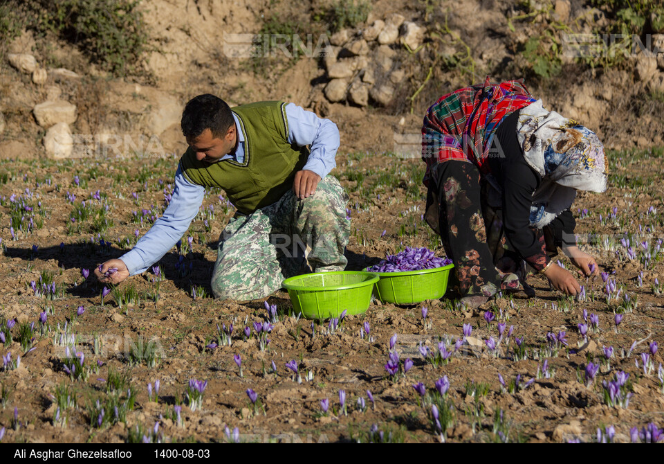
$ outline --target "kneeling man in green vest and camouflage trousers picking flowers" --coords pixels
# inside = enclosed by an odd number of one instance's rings
[[[120,283],[160,260],[189,228],[206,187],[225,190],[237,208],[219,239],[216,298],[250,301],[275,292],[306,265],[297,243],[310,248],[314,271],[346,267],[348,195],[329,175],[339,148],[334,123],[293,103],[230,109],[205,94],[187,103],[181,126],[189,148],[169,206],[136,247],[95,270],[100,282]]]

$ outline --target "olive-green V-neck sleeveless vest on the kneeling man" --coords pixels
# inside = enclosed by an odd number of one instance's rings
[[[188,148],[180,159],[181,170],[192,184],[222,188],[244,214],[277,202],[293,188],[295,173],[302,170],[309,150],[288,143],[284,102],[256,102],[231,110],[244,134],[244,162],[232,159],[198,161]]]

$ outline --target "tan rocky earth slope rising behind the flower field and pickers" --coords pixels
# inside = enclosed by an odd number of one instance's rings
[[[525,78],[548,107],[597,130],[609,147],[662,145],[656,10],[634,29],[643,47],[618,57],[613,48],[592,58],[567,53],[578,37],[625,26],[602,3],[378,1],[349,25],[317,14],[333,10],[316,1],[144,0],[147,43],[124,75],[80,43],[28,24],[0,50],[0,156],[179,152],[182,107],[199,93],[232,105],[293,101],[338,123],[342,151],[386,152],[398,136],[416,139],[438,96],[486,75]],[[337,23],[344,27],[334,30]],[[238,37],[248,47],[239,55]]]

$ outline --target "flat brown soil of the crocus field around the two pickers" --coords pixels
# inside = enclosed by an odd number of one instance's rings
[[[424,190],[418,186],[420,164],[385,155],[340,155],[334,174],[351,194],[349,269],[372,265],[385,253],[405,246],[427,246],[443,254],[421,220]],[[586,299],[571,301],[551,291],[542,278],[534,277],[531,285],[537,292],[535,298],[526,298],[522,292],[504,295],[477,312],[455,308],[445,300],[407,307],[372,301],[364,316],[349,317],[331,333],[327,322],[315,322],[312,332],[311,321],[288,316],[292,306],[288,294],[282,291],[268,300],[277,305],[282,316],[274,324],[264,350],[255,335],[246,340],[242,335],[246,326],[271,320],[262,303],[243,305],[191,296],[192,286],[201,286],[210,294],[216,240],[222,224],[232,214],[228,207],[224,211],[225,201],[217,192],[211,192],[204,203],[208,210],[214,206],[214,218],[197,217],[187,233],[193,238],[193,250],[183,246],[180,270],[176,269],[180,255],[175,250],[161,260],[166,278],[160,283],[158,301],[151,298],[156,286],[151,282],[151,271],[120,287],[134,287],[138,294],[138,301],[123,307],[118,307],[113,294],[106,296],[102,305],[102,285],[92,277],[82,277],[82,269],[93,269],[129,249],[135,230],[140,234],[147,231],[147,219],[131,222],[133,211],[139,211],[139,216],[142,208],[161,211],[164,189],[169,188],[175,166],[174,157],[116,159],[102,164],[3,161],[1,170],[7,176],[0,187],[0,269],[6,276],[0,283],[2,317],[3,321],[17,321],[11,332],[16,340],[20,339],[20,325],[35,323],[33,341],[23,347],[18,341],[8,341],[1,348],[3,356],[11,353],[12,361],[21,355],[19,368],[8,368],[0,375],[4,392],[0,424],[6,427],[3,440],[122,442],[131,440],[131,431],[137,425],[149,429],[158,422],[162,440],[234,440],[232,433],[226,438],[223,429],[229,427],[232,431],[237,427],[240,440],[246,441],[367,441],[379,439],[371,434],[376,424],[379,431],[385,431],[384,440],[391,432],[394,441],[438,441],[441,434],[430,422],[430,402],[420,400],[412,385],[422,382],[427,395],[432,395],[434,383],[443,375],[450,382],[446,401],[451,418],[444,433],[448,441],[501,440],[498,432],[506,440],[591,441],[597,427],[609,425],[616,428],[616,440],[629,440],[631,427],[640,429],[649,422],[661,422],[664,396],[661,380],[657,379],[661,352],[651,357],[654,370],[649,373],[644,373],[641,360],[641,353],[649,351],[649,343],[661,341],[664,334],[662,298],[654,293],[661,288],[654,286],[656,278],[661,277],[661,253],[652,253],[647,267],[643,258],[646,247],[652,252],[661,243],[662,191],[656,182],[663,168],[661,151],[611,153],[611,187],[607,193],[581,194],[573,206],[580,213],[587,210],[584,217],[578,216],[582,249],[593,253],[602,271],[611,274],[622,289],[610,304],[600,278],[581,278]],[[358,172],[365,175],[360,186],[357,180],[349,180],[349,175],[357,176]],[[97,190],[100,199],[93,198]],[[132,193],[137,193],[136,200]],[[12,195],[16,196],[10,198]],[[69,195],[75,195],[75,199]],[[25,221],[33,217],[34,224],[41,224],[43,218],[42,228],[33,233],[15,229],[17,240],[12,240],[7,226],[12,199],[32,206],[32,211],[24,211],[28,216]],[[71,217],[81,211],[82,202],[92,213],[74,223]],[[98,235],[94,231],[100,225],[95,220],[101,216],[96,212],[105,209],[104,205],[109,206],[104,217],[113,226]],[[210,219],[209,231],[203,224],[206,217]],[[620,244],[625,237],[631,240],[634,259]],[[570,266],[566,258],[561,260]],[[54,276],[57,290],[53,299],[35,296],[30,286],[35,280],[39,289],[39,277],[44,273]],[[636,308],[626,305],[624,296],[638,302]],[[77,316],[80,306],[84,312]],[[425,320],[421,307],[428,308]],[[40,334],[39,314],[44,310],[48,328]],[[489,310],[496,321],[487,327],[483,314]],[[587,343],[577,326],[583,322],[584,310],[599,318],[599,331],[589,331]],[[631,311],[624,315],[617,333],[616,311]],[[75,349],[85,353],[84,367],[89,372],[86,380],[72,380],[64,370],[68,343],[61,334],[66,335],[66,321],[77,337]],[[508,327],[514,325],[514,331],[511,341],[503,341],[494,357],[485,341],[490,336],[497,339],[498,321]],[[364,323],[369,323],[370,332],[362,337]],[[217,326],[230,324],[232,344],[221,346],[216,339]],[[472,325],[472,335],[454,351],[454,341],[462,337],[464,324]],[[546,334],[560,331],[566,332],[569,344],[555,353],[547,349]],[[394,334],[394,349],[401,362],[407,358],[413,362],[405,375],[396,378],[385,369],[389,339]],[[95,347],[95,336],[100,346]],[[515,360],[517,337],[524,337],[526,347],[526,355],[520,360]],[[159,357],[154,367],[147,366],[140,357],[134,362],[128,359],[141,338],[156,343]],[[422,343],[435,351],[441,339],[448,340],[448,349],[454,354],[449,364],[434,366],[423,359],[418,346]],[[212,341],[220,346],[207,348]],[[630,349],[634,341],[640,343]],[[602,349],[609,346],[614,348],[610,369],[605,366]],[[234,355],[241,357],[242,376]],[[537,378],[544,359],[552,375]],[[294,380],[286,368],[286,363],[293,360],[302,383]],[[272,372],[272,362],[276,373]],[[602,367],[594,382],[586,384],[583,373],[589,362]],[[602,393],[602,382],[611,380],[617,371],[629,373],[629,389],[634,394],[625,408],[609,407]],[[127,373],[126,387],[136,391],[133,409],[128,409],[124,421],[111,418],[97,427],[95,402],[99,399],[103,407],[112,404],[114,395],[122,397],[107,392],[109,375],[117,377],[117,373]],[[499,375],[506,384],[517,375],[522,386],[535,380],[510,393],[501,389]],[[196,411],[183,402],[190,379],[208,382],[201,408]],[[160,391],[154,402],[149,400],[147,384],[156,380],[160,381]],[[56,389],[67,385],[77,405],[63,407],[57,421]],[[252,407],[247,389],[258,393],[261,408]],[[346,393],[347,413],[339,410],[342,390]],[[374,404],[367,391],[371,391]],[[365,408],[358,407],[360,398]],[[322,414],[320,404],[324,399],[330,404],[327,415]],[[177,404],[182,408],[180,426],[174,420]],[[17,421],[13,420],[15,408]],[[496,422],[496,414],[503,415],[502,422]],[[67,418],[66,425],[62,425],[62,417]],[[15,422],[17,426],[13,427]]]

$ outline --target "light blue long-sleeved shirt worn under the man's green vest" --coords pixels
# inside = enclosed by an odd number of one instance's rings
[[[237,116],[233,115],[233,118],[238,129],[237,149],[233,154],[221,157],[219,163],[226,159],[234,159],[239,163],[244,161],[245,136]],[[329,119],[319,118],[311,111],[305,111],[294,103],[286,105],[286,118],[288,143],[310,145],[311,152],[302,169],[311,170],[322,179],[336,166],[334,157],[340,143],[337,125]],[[131,251],[120,256],[131,276],[140,274],[160,260],[182,238],[199,212],[204,196],[205,188],[188,181],[178,166],[175,188],[164,215],[154,222]]]

